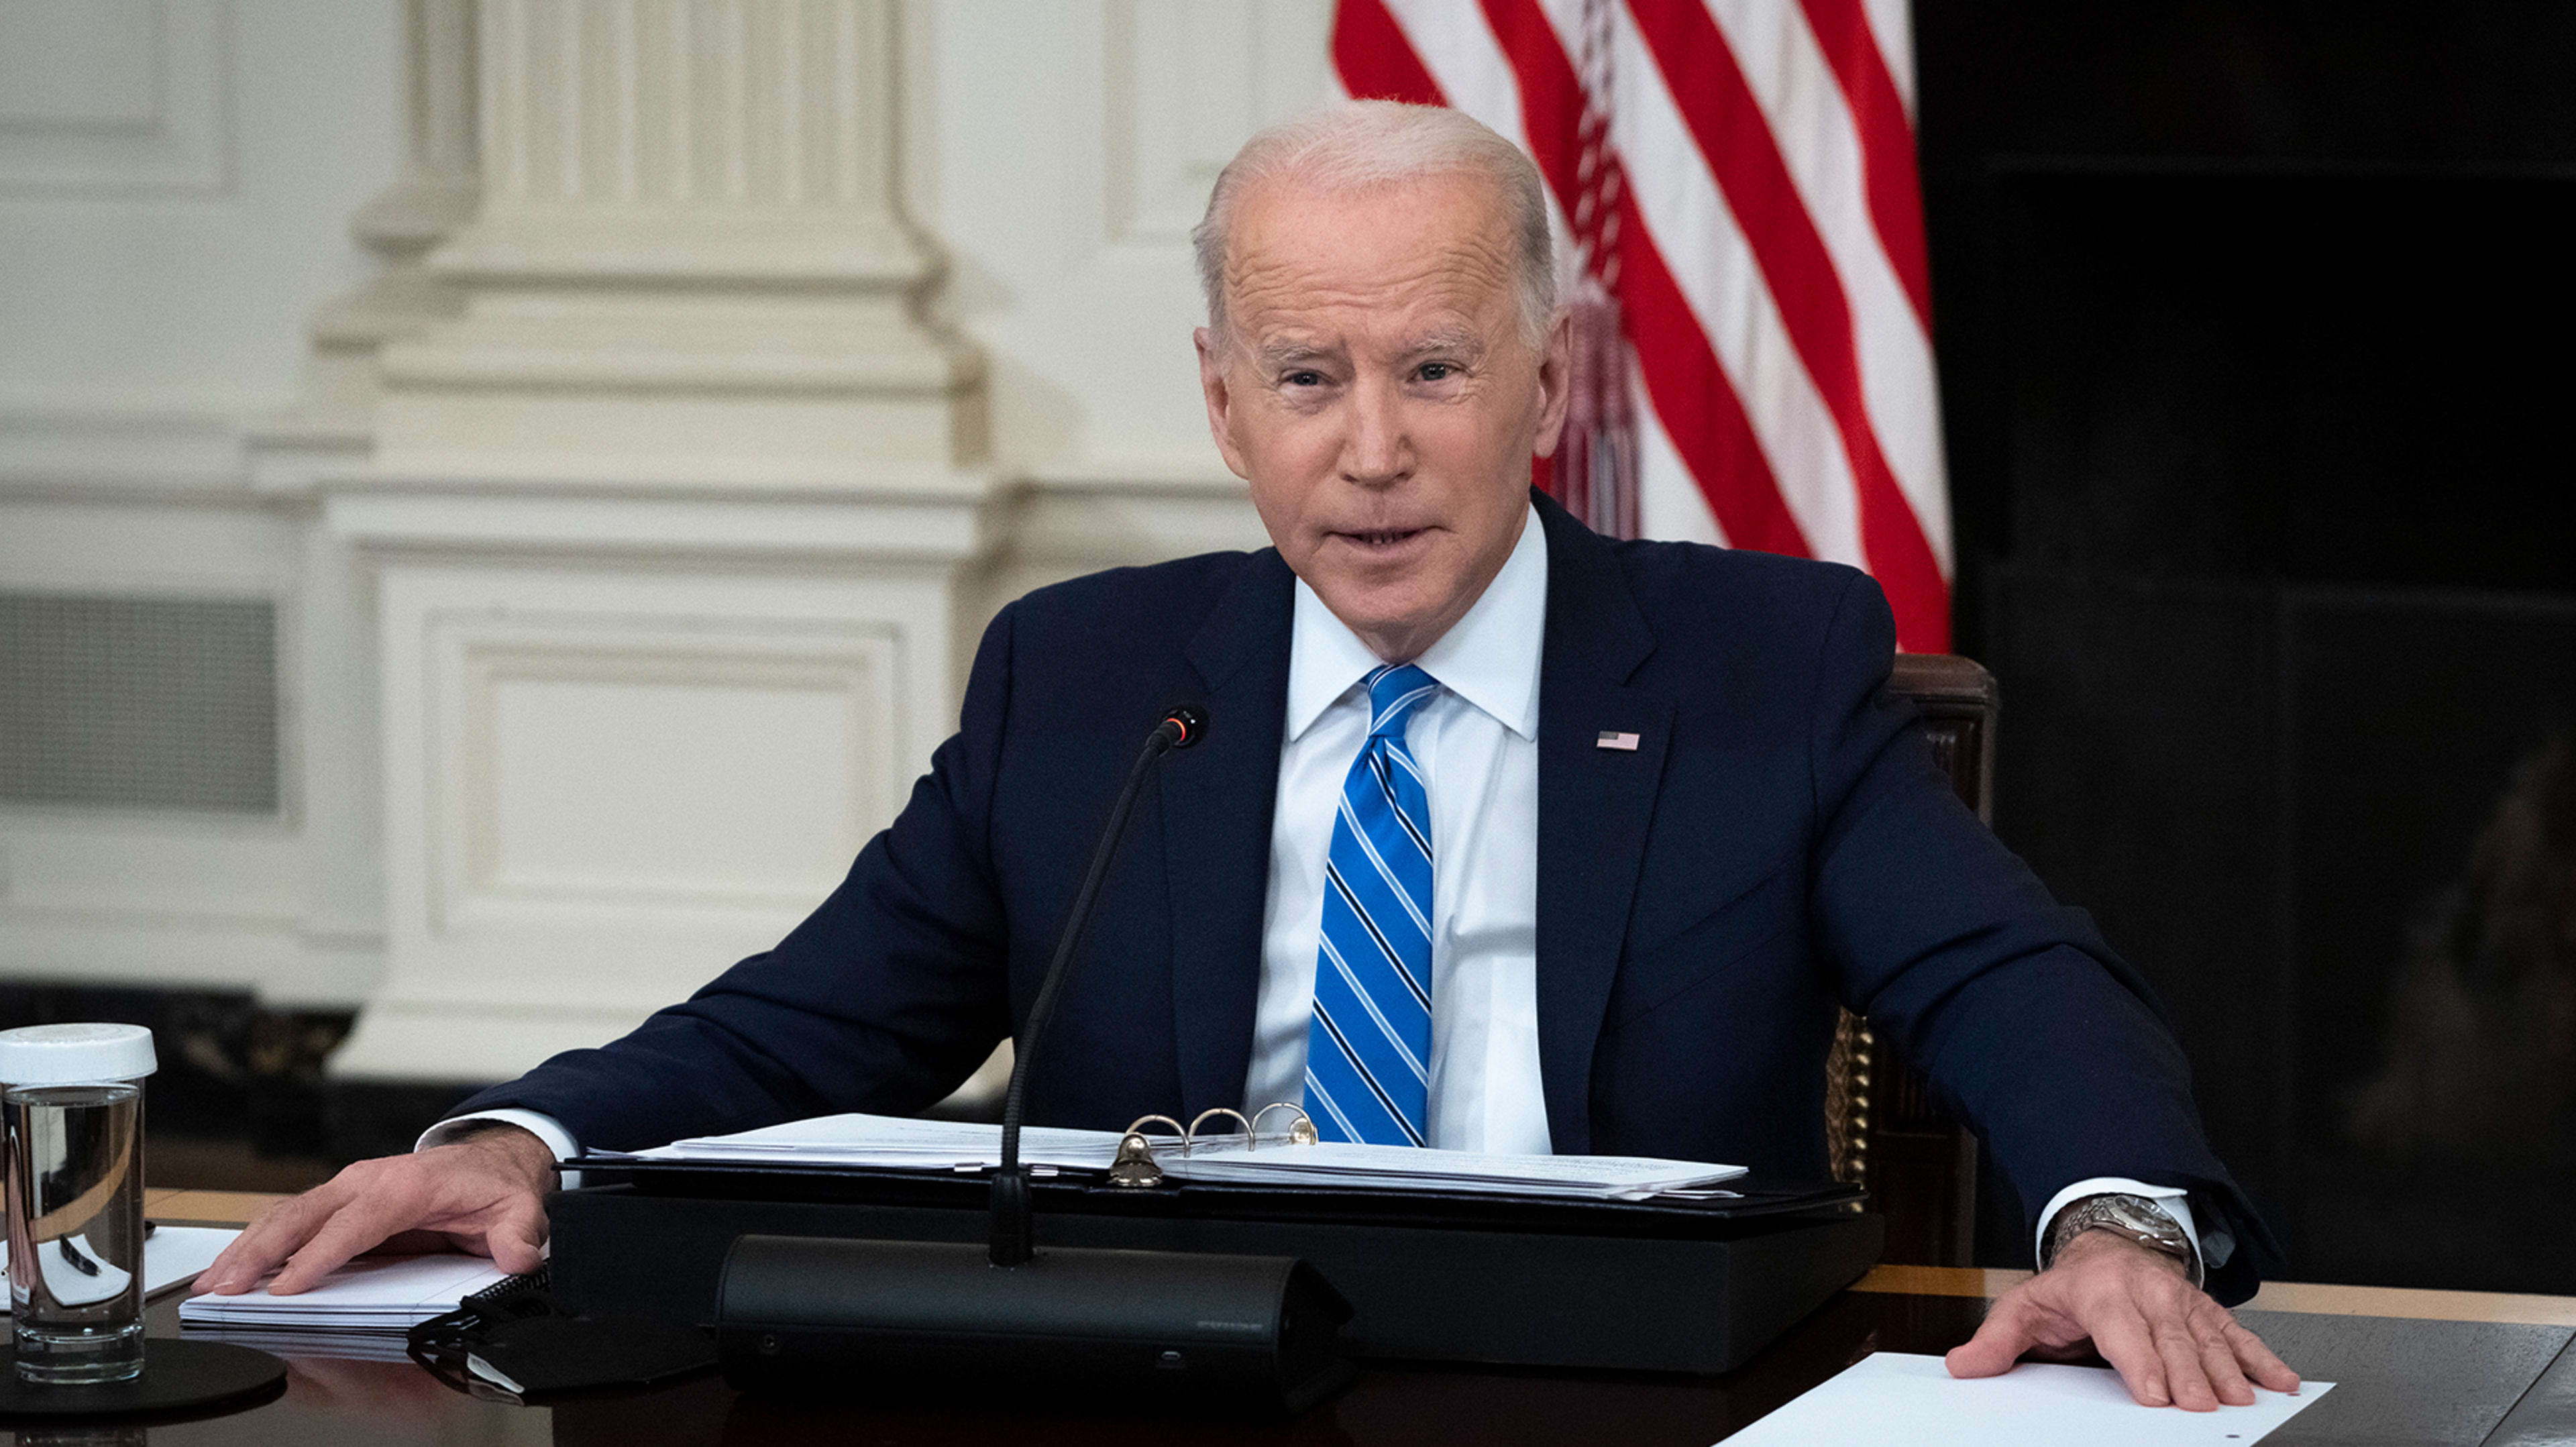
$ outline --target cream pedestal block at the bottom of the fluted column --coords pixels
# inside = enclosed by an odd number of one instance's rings
[[[507,1079],[634,1027],[829,893],[951,726],[956,561],[358,548],[389,955],[332,1074],[451,1040]]]

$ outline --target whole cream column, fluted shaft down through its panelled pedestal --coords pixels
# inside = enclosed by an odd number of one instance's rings
[[[325,523],[374,577],[386,978],[340,1079],[507,1079],[809,911],[956,708],[976,353],[889,0],[482,0],[451,317]]]

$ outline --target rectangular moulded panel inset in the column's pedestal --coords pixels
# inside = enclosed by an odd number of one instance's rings
[[[907,775],[884,623],[433,615],[433,932],[567,909],[804,914]],[[647,855],[639,855],[644,850]]]

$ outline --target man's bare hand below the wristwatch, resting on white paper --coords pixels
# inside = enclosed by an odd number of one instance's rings
[[[2025,1354],[2069,1359],[2087,1347],[2143,1406],[2251,1406],[2249,1377],[2298,1390],[2298,1372],[2195,1287],[2182,1262],[2110,1231],[2076,1236],[2045,1272],[1999,1295],[1976,1336],[1950,1352],[1950,1375],[1994,1377]]]

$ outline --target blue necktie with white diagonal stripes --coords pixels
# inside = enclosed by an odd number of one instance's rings
[[[1324,945],[1306,1032],[1306,1115],[1324,1141],[1422,1146],[1432,1063],[1432,806],[1404,724],[1440,693],[1368,675],[1368,742],[1324,855]]]

